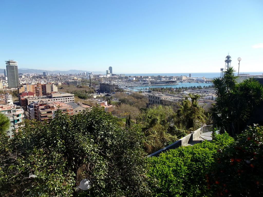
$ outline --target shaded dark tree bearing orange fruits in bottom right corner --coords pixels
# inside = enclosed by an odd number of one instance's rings
[[[263,127],[254,126],[234,144],[218,150],[214,169],[206,175],[208,188],[221,196],[263,196]]]

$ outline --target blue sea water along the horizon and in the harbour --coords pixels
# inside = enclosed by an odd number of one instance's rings
[[[189,76],[190,73],[186,73],[186,72],[183,72],[183,73],[138,73],[138,74],[125,74],[126,76],[158,76],[158,75],[161,75],[161,76]],[[237,72],[235,73],[237,75]],[[262,72],[246,72],[246,73],[239,73],[239,74],[249,74],[249,75],[262,75]],[[220,72],[192,72],[191,73],[191,77],[206,77],[206,78],[215,78],[215,77],[220,77]],[[129,87],[130,90],[133,90],[133,91],[145,91],[147,88],[156,88],[156,87],[172,87],[172,88],[176,88],[176,87],[191,87],[191,86],[201,86],[201,87],[204,87],[204,86],[212,86],[213,83],[189,83],[189,82],[186,82],[186,83],[182,83],[182,82],[178,82],[179,85],[163,85],[163,86],[154,86],[154,85],[151,85],[150,87],[149,86],[137,86],[137,87]]]

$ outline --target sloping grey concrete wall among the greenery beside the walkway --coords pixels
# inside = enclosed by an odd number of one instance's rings
[[[156,151],[156,152],[148,155],[147,157],[158,156],[160,153],[166,152],[170,149],[175,149],[175,148],[178,148],[179,146],[185,146],[186,144],[189,144],[190,142],[192,142],[196,138],[199,138],[200,136],[201,136],[201,128],[199,128],[196,131],[188,134],[187,136],[177,140],[176,142],[160,149],[159,151]]]

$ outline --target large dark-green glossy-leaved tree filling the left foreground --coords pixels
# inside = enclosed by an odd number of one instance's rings
[[[1,196],[77,196],[84,178],[92,183],[86,196],[150,192],[139,127],[119,127],[117,118],[96,107],[74,116],[58,111],[45,124],[23,124],[9,144],[0,143],[0,150],[8,151],[0,165]]]

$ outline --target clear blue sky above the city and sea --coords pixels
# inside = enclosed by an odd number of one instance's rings
[[[262,0],[2,0],[0,61],[113,73],[263,73]]]

